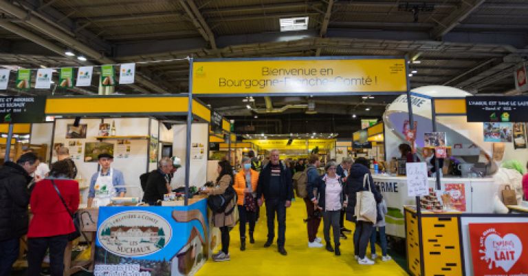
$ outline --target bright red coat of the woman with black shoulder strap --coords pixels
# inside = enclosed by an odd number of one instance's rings
[[[69,211],[75,213],[79,207],[79,184],[75,180],[54,179]],[[74,222],[64,206],[52,180],[46,178],[35,184],[31,193],[31,211],[28,237],[52,237],[75,231]]]

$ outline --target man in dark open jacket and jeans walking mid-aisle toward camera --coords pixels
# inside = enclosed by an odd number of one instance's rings
[[[256,198],[262,206],[262,195],[266,201],[267,215],[267,242],[264,247],[270,247],[275,237],[275,213],[278,221],[278,252],[287,255],[284,249],[286,233],[286,208],[292,205],[294,187],[292,175],[285,164],[278,160],[277,149],[270,152],[270,162],[262,168],[259,175],[259,184],[256,187]]]

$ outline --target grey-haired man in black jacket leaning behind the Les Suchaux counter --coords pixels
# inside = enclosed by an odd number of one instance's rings
[[[148,174],[143,202],[155,205],[158,200],[163,200],[163,195],[172,190],[170,188],[170,174],[174,172],[172,159],[164,157],[159,160],[159,168]]]

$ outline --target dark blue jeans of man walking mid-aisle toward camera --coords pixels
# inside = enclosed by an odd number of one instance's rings
[[[275,214],[278,222],[278,248],[284,247],[285,233],[286,233],[286,207],[285,201],[278,198],[266,199],[266,215],[267,215],[267,240],[273,241],[275,237]]]

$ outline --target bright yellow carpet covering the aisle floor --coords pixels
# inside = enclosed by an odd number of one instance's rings
[[[265,209],[261,208],[261,218],[256,224],[254,244],[246,244],[246,250],[240,251],[239,226],[231,231],[230,255],[228,262],[213,262],[211,259],[198,271],[197,276],[221,275],[408,275],[394,261],[376,260],[372,266],[360,266],[354,260],[352,234],[347,240],[341,240],[341,256],[335,256],[325,248],[308,248],[305,202],[299,198],[292,202],[286,211],[286,251],[287,256],[277,252],[276,240],[269,248],[264,248],[267,227]],[[276,226],[275,226],[276,227]],[[353,229],[351,222],[345,227]],[[322,235],[322,222],[318,237]],[[276,237],[277,235],[275,235]],[[379,246],[376,251],[381,253]],[[215,251],[216,252],[216,251]],[[370,246],[367,249],[370,255]]]

